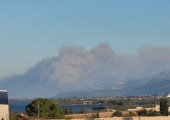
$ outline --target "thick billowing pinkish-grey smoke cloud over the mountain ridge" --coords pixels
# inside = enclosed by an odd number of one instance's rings
[[[62,47],[56,57],[42,60],[41,80],[62,91],[112,88],[126,78],[141,78],[170,69],[170,47],[145,46],[135,54],[117,54],[108,43],[86,51],[83,47]]]

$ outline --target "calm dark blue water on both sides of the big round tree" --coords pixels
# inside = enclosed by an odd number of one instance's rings
[[[20,113],[26,113],[25,107],[26,105],[30,104],[32,101],[9,101],[9,107],[12,109],[12,111],[20,112]],[[79,111],[83,108],[86,108],[87,110],[92,109],[92,105],[66,105],[66,106],[60,106],[60,108],[71,108],[73,112]]]

